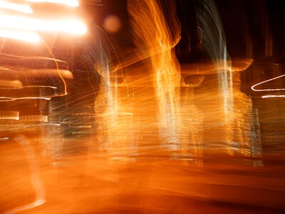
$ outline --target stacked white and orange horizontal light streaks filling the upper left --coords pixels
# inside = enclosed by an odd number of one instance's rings
[[[46,3],[48,3],[47,8]],[[3,54],[0,57],[0,102],[3,115],[1,125],[7,123],[5,116],[7,109],[20,111],[19,118],[10,116],[8,125],[47,123],[47,102],[53,97],[67,94],[66,81],[73,79],[73,73],[69,71],[66,62],[56,60],[46,40],[57,33],[85,34],[86,26],[78,17],[71,16],[71,12],[69,14],[55,12],[53,17],[41,15],[41,11],[46,13],[49,9],[56,9],[58,4],[67,7],[68,11],[69,6],[78,6],[78,1],[0,1],[0,36],[4,38],[1,40]],[[14,51],[6,49],[6,46],[21,45],[21,41],[32,43],[41,41],[36,47],[45,49],[46,55],[51,58],[5,54]],[[30,47],[36,49],[35,46]],[[25,47],[19,47],[19,53],[21,50],[25,51]],[[39,109],[35,108],[34,112],[30,111],[28,115],[25,115],[17,103],[26,103],[26,105],[31,105],[31,108],[38,106]],[[4,126],[6,127],[7,124]]]

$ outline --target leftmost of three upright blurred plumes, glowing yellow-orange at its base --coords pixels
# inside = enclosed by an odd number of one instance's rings
[[[132,154],[129,151],[132,151],[130,148],[133,141],[128,138],[132,128],[132,122],[128,121],[128,118],[133,117],[132,114],[129,114],[130,109],[123,109],[125,103],[119,100],[118,86],[120,83],[118,78],[120,76],[118,73],[121,68],[115,71],[110,66],[112,63],[110,51],[116,53],[117,50],[105,31],[98,27],[96,30],[100,34],[97,35],[96,40],[89,39],[86,48],[88,62],[95,62],[93,67],[101,78],[99,92],[95,100],[95,118],[98,123],[97,139],[100,151],[107,152],[110,156],[130,156]],[[110,50],[105,49],[105,46],[110,47]],[[128,93],[123,93],[121,96],[128,97]]]

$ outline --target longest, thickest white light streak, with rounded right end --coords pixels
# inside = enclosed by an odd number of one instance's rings
[[[86,33],[86,26],[76,19],[59,19],[54,21],[31,19],[24,16],[0,15],[0,27],[26,31],[66,32],[82,35]]]

